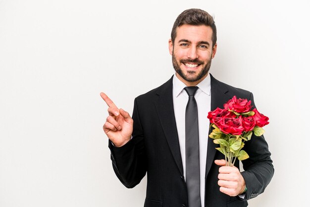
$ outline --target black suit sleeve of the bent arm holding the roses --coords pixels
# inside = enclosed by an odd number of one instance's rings
[[[252,93],[250,94],[250,100],[255,107]],[[264,192],[271,181],[274,168],[268,144],[263,136],[257,137],[253,134],[251,140],[245,142],[244,150],[250,156],[242,161],[245,171],[241,173],[248,189],[245,199],[249,200]]]

